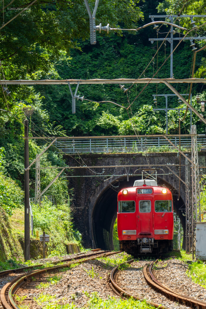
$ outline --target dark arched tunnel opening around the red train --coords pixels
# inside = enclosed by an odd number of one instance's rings
[[[134,181],[140,179],[140,177],[130,177],[129,181],[126,178],[118,179],[113,182],[114,186],[119,184],[118,191],[114,188],[107,187],[101,195],[98,197],[93,213],[92,213],[92,232],[93,239],[96,248],[102,248],[105,250],[113,250],[113,225],[117,216],[117,195],[122,188],[132,187]],[[182,198],[178,201],[177,191],[172,188],[170,184],[162,179],[158,179],[158,185],[165,185],[169,188],[173,194],[174,211],[179,216],[183,231],[185,235],[185,217],[183,211],[185,206]],[[181,210],[179,210],[179,208]],[[185,236],[183,237],[183,248],[185,246]]]

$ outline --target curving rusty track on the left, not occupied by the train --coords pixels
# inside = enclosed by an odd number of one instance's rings
[[[99,249],[101,250],[101,249]],[[97,251],[97,250],[94,250]],[[67,262],[65,264],[61,264],[61,265],[56,265],[56,266],[52,266],[52,267],[46,267],[43,269],[34,269],[30,272],[27,273],[23,273],[22,275],[18,276],[17,278],[14,278],[11,282],[6,283],[5,286],[3,286],[3,288],[1,289],[0,292],[0,299],[1,299],[1,303],[2,306],[5,309],[19,309],[19,306],[15,303],[15,300],[13,298],[13,295],[15,294],[15,291],[22,286],[25,281],[37,277],[43,273],[49,273],[49,272],[53,272],[53,271],[58,271],[58,269],[61,268],[65,268],[65,267],[69,267],[71,264],[74,263],[84,263],[87,262],[89,260],[94,260],[96,258],[99,257],[105,257],[105,256],[110,256],[112,254],[117,254],[120,253],[120,251],[118,252],[111,252],[111,251],[102,251],[102,252],[93,252],[90,254],[85,254],[85,255],[80,255],[80,256],[76,256],[75,258],[69,258],[69,259],[65,259],[65,260],[61,260],[61,261],[57,261],[56,263],[60,263],[60,262]],[[42,265],[38,265],[38,266],[42,266]],[[36,265],[33,267],[37,267]],[[23,271],[23,270],[27,270],[28,268],[32,268],[32,267],[24,267],[24,268],[20,268],[20,269],[15,269],[15,271],[19,272],[19,271]],[[14,269],[11,270],[6,270],[5,274],[8,273],[12,273],[14,272]],[[3,275],[3,272],[1,272],[1,275]],[[35,283],[36,285],[36,283]]]

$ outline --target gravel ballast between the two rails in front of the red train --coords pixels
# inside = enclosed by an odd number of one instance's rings
[[[143,268],[146,264],[150,264],[151,261],[134,261],[130,264],[126,270],[119,271],[116,276],[116,283],[125,291],[138,296],[142,299],[146,299],[149,302],[166,306],[171,309],[186,309],[190,308],[183,304],[173,302],[161,293],[153,290],[145,281],[143,275]],[[165,278],[170,278],[170,274],[164,275]],[[180,279],[181,280],[181,279]]]

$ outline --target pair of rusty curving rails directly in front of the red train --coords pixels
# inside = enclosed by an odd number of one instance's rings
[[[133,261],[134,260],[129,260],[128,262],[125,262],[125,263],[129,264],[129,263],[132,263]],[[174,290],[171,290],[167,286],[163,285],[161,282],[159,282],[154,277],[153,272],[152,272],[153,265],[157,261],[158,261],[158,259],[155,260],[154,262],[152,262],[150,265],[148,265],[148,264],[145,265],[144,268],[143,268],[143,274],[144,274],[145,280],[146,280],[146,282],[148,283],[149,286],[151,286],[154,290],[160,292],[161,294],[165,295],[171,301],[179,302],[179,303],[184,304],[185,306],[192,307],[192,308],[197,307],[198,309],[206,309],[206,302],[192,298],[192,297],[188,297],[188,296],[180,294],[180,293],[177,293]],[[137,300],[143,300],[142,298],[138,297],[138,295],[133,295],[133,294],[127,292],[126,290],[123,290],[116,283],[116,277],[117,277],[118,269],[121,265],[122,264],[117,265],[116,267],[114,267],[112,269],[111,274],[110,274],[109,285],[116,292],[116,294],[118,294],[122,298],[132,297],[132,298],[137,299]],[[147,301],[147,303],[156,307],[156,308],[157,307],[159,307],[161,309],[167,308],[166,306],[160,306],[159,304],[152,303],[152,302],[149,302],[149,301]]]

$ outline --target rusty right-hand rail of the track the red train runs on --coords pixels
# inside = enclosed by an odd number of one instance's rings
[[[145,267],[143,269],[145,280],[154,290],[158,290],[160,293],[164,294],[166,297],[170,298],[171,300],[178,301],[179,303],[183,303],[186,306],[198,307],[199,309],[206,309],[206,302],[192,298],[192,297],[189,297],[189,296],[186,296],[186,295],[183,295],[183,294],[180,294],[180,293],[177,293],[177,292],[171,290],[170,288],[168,288],[167,286],[163,285],[162,283],[160,283],[154,277],[154,275],[152,273],[152,267],[153,267],[154,263],[156,263],[157,261],[158,261],[158,259],[155,260],[150,265],[145,265]]]

